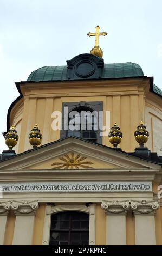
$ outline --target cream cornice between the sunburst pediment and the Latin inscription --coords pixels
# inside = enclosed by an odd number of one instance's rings
[[[50,181],[55,176],[55,181],[154,181],[158,170],[152,169],[33,169],[33,170],[1,170],[1,182],[18,181]],[[161,174],[159,174],[161,176]]]

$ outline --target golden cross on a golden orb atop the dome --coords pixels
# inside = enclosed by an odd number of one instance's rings
[[[95,33],[91,33],[89,32],[87,35],[90,36],[95,36],[95,46],[92,48],[92,50],[90,51],[90,54],[93,54],[95,56],[98,56],[100,58],[102,58],[103,56],[103,51],[102,49],[99,47],[99,35],[107,35],[107,32],[99,32],[100,30],[100,26],[96,26],[96,32]]]

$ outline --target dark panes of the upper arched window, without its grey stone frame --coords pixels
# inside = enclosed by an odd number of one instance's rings
[[[74,108],[69,113],[67,137],[75,136],[97,142],[98,113],[87,107]]]

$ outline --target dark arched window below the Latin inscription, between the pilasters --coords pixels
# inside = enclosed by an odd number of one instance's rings
[[[51,216],[50,245],[88,245],[89,214],[66,211]]]

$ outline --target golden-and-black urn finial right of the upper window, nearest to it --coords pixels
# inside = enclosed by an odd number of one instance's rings
[[[108,137],[109,142],[113,144],[114,148],[117,148],[118,144],[121,142],[122,139],[122,132],[120,131],[120,127],[117,123],[114,123],[114,125],[112,126]]]

